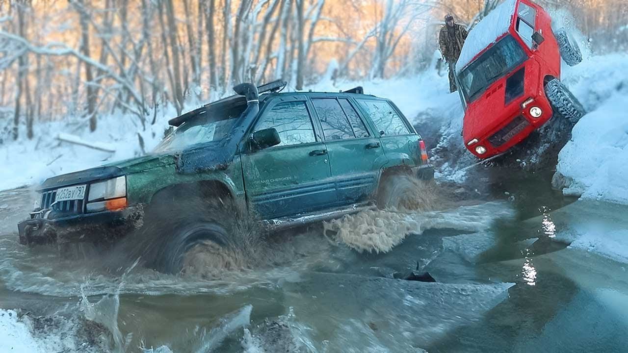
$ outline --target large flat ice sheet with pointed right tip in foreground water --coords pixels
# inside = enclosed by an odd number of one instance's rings
[[[514,284],[424,283],[351,274],[310,273],[284,283],[286,304],[309,327],[325,327],[317,337],[355,352],[385,348],[407,352],[427,347],[460,325],[476,322],[507,297]],[[325,318],[323,326],[317,323]],[[363,339],[368,337],[368,339]]]

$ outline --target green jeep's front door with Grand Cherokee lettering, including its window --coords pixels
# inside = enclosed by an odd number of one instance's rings
[[[296,215],[335,202],[327,148],[303,95],[275,98],[252,132],[275,128],[281,143],[241,155],[247,202],[264,219]]]

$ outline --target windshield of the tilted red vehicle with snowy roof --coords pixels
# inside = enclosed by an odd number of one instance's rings
[[[493,82],[526,60],[519,42],[511,35],[499,40],[458,73],[458,82],[467,102],[477,99]]]

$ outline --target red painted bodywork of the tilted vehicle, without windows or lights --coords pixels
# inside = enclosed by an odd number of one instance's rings
[[[517,21],[516,14],[520,3],[525,3],[536,9],[534,31],[538,31],[544,37],[543,43],[536,49],[529,48],[515,30]],[[551,17],[538,4],[534,4],[529,0],[518,0],[515,14],[512,16],[509,27],[509,34],[524,48],[528,58],[521,65],[514,68],[514,70],[504,75],[504,77],[501,77],[489,85],[480,97],[467,104],[465,110],[462,129],[463,140],[467,149],[479,158],[489,158],[490,156],[507,151],[509,148],[528,137],[532,131],[541,127],[553,114],[544,92],[544,80],[546,77],[560,79],[560,52],[558,51],[556,38],[551,30]],[[506,36],[506,34],[504,34],[504,36]],[[501,38],[495,38],[495,41],[498,39]],[[484,48],[482,52],[475,56],[474,60],[480,57],[480,55],[486,52],[491,46]],[[506,80],[522,67],[525,67],[524,93],[506,104]],[[533,102],[529,103],[525,109],[522,108],[522,103],[529,98],[532,98]],[[543,114],[536,119],[529,114],[529,109],[533,106],[539,107],[543,111]],[[501,144],[501,146],[493,146],[489,142],[490,136],[493,136],[493,134],[507,126],[517,116],[523,116],[528,121],[529,125],[521,131],[516,132],[513,136],[510,136],[509,140]],[[473,144],[468,144],[473,139],[477,139],[478,141]],[[484,146],[486,152],[480,155],[475,151],[477,146]]]

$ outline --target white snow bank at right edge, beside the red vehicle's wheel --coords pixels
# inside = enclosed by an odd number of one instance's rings
[[[568,195],[628,204],[628,55],[592,57],[565,70],[564,81],[589,113],[558,155]]]

